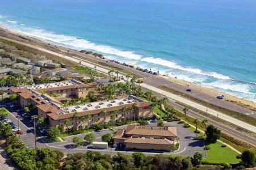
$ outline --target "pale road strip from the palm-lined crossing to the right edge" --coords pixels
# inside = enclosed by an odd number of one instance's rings
[[[173,100],[176,100],[176,101],[179,101],[179,102],[184,103],[186,105],[189,105],[193,108],[199,109],[200,111],[205,112],[208,109],[207,113],[212,114],[213,116],[221,118],[225,121],[228,121],[228,122],[230,122],[234,125],[240,126],[243,129],[250,130],[250,131],[253,131],[254,133],[256,133],[256,127],[255,126],[247,124],[246,122],[237,120],[236,118],[227,116],[224,113],[214,111],[213,109],[210,109],[210,108],[207,108],[207,107],[205,107],[201,104],[195,103],[194,101],[185,99],[185,98],[177,96],[175,94],[171,94],[170,92],[167,92],[167,91],[164,91],[164,90],[160,90],[159,88],[150,86],[150,85],[145,84],[145,83],[141,83],[141,86],[144,87],[144,88],[147,88],[148,90],[152,90],[152,91],[155,91],[155,92],[157,92],[159,94],[162,94],[164,96],[170,97]]]

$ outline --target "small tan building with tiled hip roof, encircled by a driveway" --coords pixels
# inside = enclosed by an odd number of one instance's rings
[[[164,150],[179,142],[176,127],[128,125],[113,137],[118,147],[127,150]]]

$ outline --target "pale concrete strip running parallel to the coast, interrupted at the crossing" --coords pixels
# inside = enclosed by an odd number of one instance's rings
[[[104,67],[104,66],[101,66],[101,65],[97,65],[95,63],[92,63],[92,62],[89,62],[89,61],[85,61],[84,59],[80,59],[80,58],[77,58],[77,57],[69,57],[69,56],[65,56],[63,54],[59,54],[59,53],[56,53],[56,52],[52,52],[51,50],[47,50],[47,49],[44,49],[44,48],[40,48],[39,46],[35,46],[35,45],[31,45],[31,44],[27,44],[27,43],[24,43],[24,42],[21,42],[21,41],[16,41],[16,40],[12,40],[12,39],[8,39],[6,37],[1,37],[1,39],[5,39],[5,40],[9,40],[9,41],[13,41],[13,42],[16,42],[18,44],[21,44],[21,45],[24,45],[24,46],[28,46],[30,48],[34,48],[34,49],[37,49],[37,50],[40,50],[42,52],[46,52],[46,53],[49,53],[49,54],[53,54],[57,57],[61,57],[61,58],[64,58],[64,59],[68,59],[69,61],[72,61],[72,62],[76,62],[76,63],[80,63],[80,65],[83,65],[83,66],[87,66],[87,67],[91,67],[94,69],[94,66],[97,66],[96,67],[96,70],[101,72],[101,73],[104,73],[104,74],[107,74],[108,75],[108,72],[109,72],[109,69],[108,67]],[[114,76],[117,76],[117,74],[113,73]],[[119,73],[119,75],[125,75],[125,73]],[[173,99],[173,100],[176,100],[176,101],[179,101],[180,103],[183,103],[185,105],[188,105],[189,107],[193,107],[193,108],[196,108],[200,111],[203,111],[203,112],[206,112],[207,111],[207,107],[205,107],[204,105],[201,105],[201,104],[198,104],[194,101],[191,101],[191,100],[188,100],[188,99],[185,99],[183,97],[180,97],[180,96],[177,96],[175,94],[172,94],[170,92],[167,92],[167,91],[164,91],[164,90],[161,90],[159,88],[156,88],[156,87],[153,87],[153,86],[150,86],[148,84],[145,84],[145,83],[141,83],[140,84],[142,87],[144,88],[147,88],[148,90],[152,90],[152,91],[155,91],[159,94],[162,94],[164,96],[167,96],[167,97],[170,97],[170,99]],[[212,114],[213,116],[216,116],[218,118],[221,118],[222,120],[225,120],[227,122],[230,122],[234,125],[237,125],[237,126],[240,126],[241,128],[243,129],[246,129],[246,130],[249,130],[249,131],[252,131],[254,133],[256,133],[256,127],[253,126],[253,125],[250,125],[250,124],[247,124],[246,122],[243,122],[243,121],[240,121],[240,120],[237,120],[236,118],[233,118],[233,117],[230,117],[224,113],[221,113],[221,112],[217,112],[217,111],[214,111],[213,109],[210,109],[208,108],[208,111],[207,111],[208,114]]]

